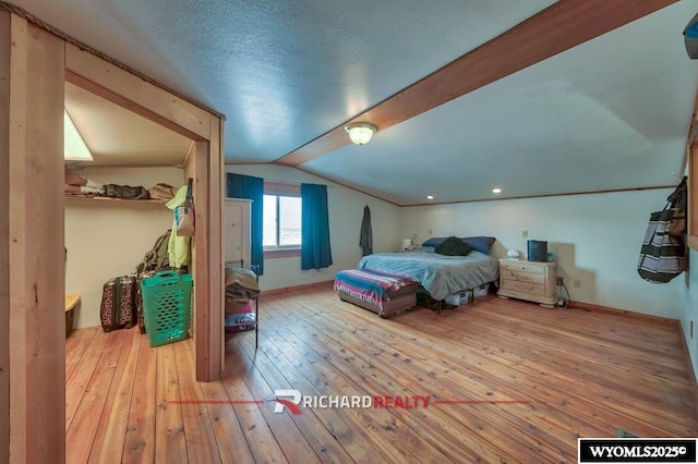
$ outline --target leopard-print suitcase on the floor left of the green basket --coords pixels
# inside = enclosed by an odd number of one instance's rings
[[[130,329],[136,323],[135,277],[117,277],[105,283],[99,315],[105,332]]]

